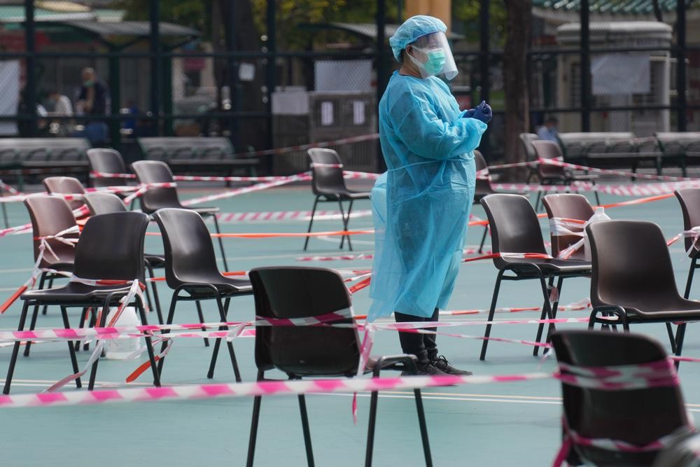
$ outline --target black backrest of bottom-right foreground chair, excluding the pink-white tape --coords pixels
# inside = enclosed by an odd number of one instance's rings
[[[557,361],[582,367],[636,365],[666,358],[659,343],[629,333],[559,331],[552,334],[552,344]],[[602,391],[562,384],[561,391],[570,428],[585,438],[643,446],[688,425],[680,387]],[[575,451],[587,465],[596,466],[648,466],[658,454],[613,452],[582,445],[575,445]]]

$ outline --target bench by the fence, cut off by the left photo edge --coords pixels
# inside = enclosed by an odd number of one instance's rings
[[[29,169],[87,176],[88,149],[85,138],[0,138],[0,174],[16,175],[20,189]]]

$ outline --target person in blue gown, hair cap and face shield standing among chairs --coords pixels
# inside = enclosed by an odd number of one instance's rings
[[[437,321],[454,288],[474,197],[474,149],[491,107],[460,111],[447,84],[457,74],[447,27],[414,16],[389,39],[394,71],[379,102],[388,171],[372,189],[375,255],[369,319]],[[428,328],[435,330],[435,328]],[[399,333],[421,375],[470,375],[437,351],[435,335]]]

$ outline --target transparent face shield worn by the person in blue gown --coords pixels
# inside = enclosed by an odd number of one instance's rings
[[[444,32],[419,37],[410,44],[410,49],[407,48],[404,56],[418,67],[423,78],[444,74],[445,78],[451,80],[457,76],[457,66]]]

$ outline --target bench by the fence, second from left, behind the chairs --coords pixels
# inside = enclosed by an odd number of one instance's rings
[[[139,138],[139,147],[146,160],[162,160],[173,172],[228,172],[246,170],[257,173],[260,159],[235,158],[228,138],[219,137],[153,137]]]

